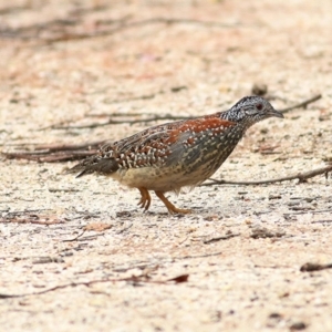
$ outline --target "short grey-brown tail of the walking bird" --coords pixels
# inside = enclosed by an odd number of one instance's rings
[[[66,174],[77,173],[76,177],[92,173],[110,175],[117,169],[118,164],[114,158],[101,158],[100,156],[92,156],[68,169]]]

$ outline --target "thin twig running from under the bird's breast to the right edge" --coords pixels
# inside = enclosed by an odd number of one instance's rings
[[[257,180],[257,181],[228,181],[228,180],[216,180],[214,178],[210,178],[212,183],[203,184],[200,186],[201,187],[219,186],[219,185],[252,186],[252,185],[267,185],[267,184],[290,181],[293,179],[299,179],[299,184],[301,184],[301,183],[305,183],[309,178],[312,178],[314,176],[322,175],[322,174],[326,175],[329,172],[332,172],[332,165],[304,172],[304,173],[298,173],[297,175],[290,175],[286,177],[267,179],[267,180]]]

